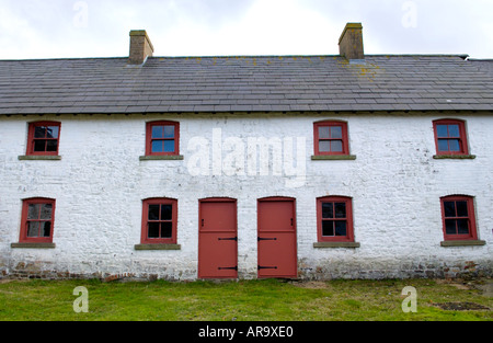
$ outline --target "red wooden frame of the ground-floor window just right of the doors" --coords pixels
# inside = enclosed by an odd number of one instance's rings
[[[332,215],[326,213],[324,214],[323,204],[332,204]],[[336,204],[340,208],[342,208],[341,204],[344,204],[344,216],[342,216],[341,213],[339,216],[336,215]],[[325,228],[329,231],[332,231],[332,235],[324,235],[324,222],[326,222]],[[345,222],[345,235],[336,233],[337,222]],[[330,228],[331,226],[332,229]],[[353,199],[351,197],[323,196],[317,198],[317,235],[319,242],[354,242]]]

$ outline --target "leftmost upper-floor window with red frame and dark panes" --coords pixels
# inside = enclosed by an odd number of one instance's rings
[[[60,123],[31,123],[26,155],[58,155],[59,138]]]

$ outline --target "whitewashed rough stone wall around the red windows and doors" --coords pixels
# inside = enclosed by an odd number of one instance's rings
[[[467,121],[473,160],[435,160],[432,121]],[[27,123],[61,122],[59,161],[25,161]],[[179,121],[184,160],[141,161],[146,122]],[[356,160],[313,161],[313,122],[348,123]],[[298,273],[301,278],[448,277],[491,275],[493,270],[493,116],[365,115],[213,116],[78,115],[11,116],[0,122],[0,277],[197,277],[198,199],[238,199],[238,267],[256,277],[256,199],[290,196],[297,206]],[[214,149],[221,135],[222,161],[244,145],[243,169],[218,169]],[[195,138],[194,138],[195,137]],[[231,139],[231,137],[234,137]],[[298,179],[248,172],[249,137],[305,141],[305,170]],[[297,140],[299,139],[299,140]],[[208,169],[198,175],[191,160],[196,141],[208,141]],[[228,146],[237,144],[237,146]],[[298,147],[302,147],[298,146]],[[191,148],[191,150],[188,150]],[[286,151],[287,149],[284,149]],[[216,152],[217,150],[215,150]],[[238,150],[234,150],[238,152]],[[295,155],[296,156],[296,155]],[[283,157],[278,157],[283,159]],[[239,167],[239,165],[236,165]],[[241,167],[241,165],[240,165]],[[241,174],[243,172],[243,174]],[[296,175],[296,174],[295,174]],[[439,197],[474,196],[480,247],[440,247]],[[353,197],[355,241],[359,248],[313,248],[316,198]],[[55,249],[16,249],[22,199],[56,199]],[[177,199],[180,250],[139,251],[141,201]]]

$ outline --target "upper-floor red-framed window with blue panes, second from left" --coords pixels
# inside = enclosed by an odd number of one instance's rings
[[[179,155],[180,124],[175,122],[147,123],[146,155]]]

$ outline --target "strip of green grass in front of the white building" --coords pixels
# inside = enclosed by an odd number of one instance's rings
[[[73,311],[73,288],[89,291],[89,312]],[[308,287],[311,286],[311,287]],[[417,311],[404,313],[402,288],[417,290]],[[491,321],[491,310],[454,311],[437,302],[493,308],[491,297],[432,279],[276,279],[170,283],[156,281],[12,281],[0,283],[2,321]]]

